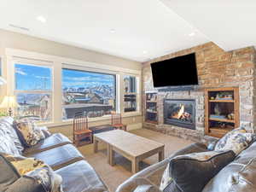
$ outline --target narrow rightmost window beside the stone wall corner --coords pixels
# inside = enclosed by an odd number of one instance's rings
[[[124,111],[133,112],[137,110],[137,86],[136,77],[124,76]]]

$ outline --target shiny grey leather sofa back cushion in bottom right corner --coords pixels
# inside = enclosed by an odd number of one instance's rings
[[[256,143],[242,151],[207,183],[203,192],[256,191]]]

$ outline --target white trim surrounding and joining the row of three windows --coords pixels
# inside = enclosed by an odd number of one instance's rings
[[[142,115],[141,109],[141,70],[134,70],[125,67],[114,67],[108,64],[90,62],[90,61],[80,61],[71,58],[55,56],[55,55],[45,55],[37,52],[26,51],[22,49],[5,49],[6,64],[9,67],[7,69],[7,94],[13,95],[15,93],[15,67],[14,63],[19,58],[19,61],[30,61],[24,62],[24,64],[34,63],[34,65],[46,65],[52,67],[52,120],[53,122],[47,122],[42,125],[69,125],[72,120],[62,120],[62,89],[61,89],[61,69],[62,67],[67,67],[70,69],[82,69],[84,71],[99,72],[99,73],[114,73],[116,74],[116,103],[117,112],[123,113],[123,102],[124,97],[123,91],[123,75],[131,75],[137,77],[137,111],[127,112],[123,114],[123,117],[132,117]],[[33,62],[34,61],[34,62]],[[22,63],[22,62],[21,62]],[[68,64],[67,64],[68,63]],[[90,118],[89,122],[100,121],[110,119],[110,116],[103,116],[99,118]]]

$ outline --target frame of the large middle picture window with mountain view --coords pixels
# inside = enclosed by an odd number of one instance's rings
[[[90,68],[87,68],[87,67],[67,67],[67,64],[65,65],[62,65],[61,67],[61,96],[63,96],[63,76],[62,76],[62,70],[63,69],[67,69],[67,70],[73,70],[73,71],[79,71],[79,72],[84,72],[84,73],[98,73],[98,74],[104,74],[104,75],[111,75],[113,76],[113,96],[114,96],[114,100],[115,100],[115,105],[114,105],[114,110],[115,112],[118,112],[118,99],[117,99],[117,95],[118,95],[118,91],[117,91],[117,76],[118,74],[116,73],[111,73],[110,71],[109,72],[102,72],[102,70],[94,70],[94,69],[90,69]],[[62,101],[62,100],[61,100]],[[61,109],[63,110],[63,104],[61,105]],[[89,118],[89,119],[95,119],[95,118],[104,118],[104,117],[108,117],[110,115],[103,115],[101,117],[94,117],[94,118]],[[63,119],[63,113],[61,113],[61,117],[62,117],[62,121],[68,121],[70,119]]]

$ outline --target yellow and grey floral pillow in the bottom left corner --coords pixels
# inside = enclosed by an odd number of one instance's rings
[[[63,192],[61,187],[62,177],[56,174],[42,160],[35,158],[25,158],[2,154],[9,163],[15,167],[20,177],[33,177],[37,183],[44,186],[46,192]]]

